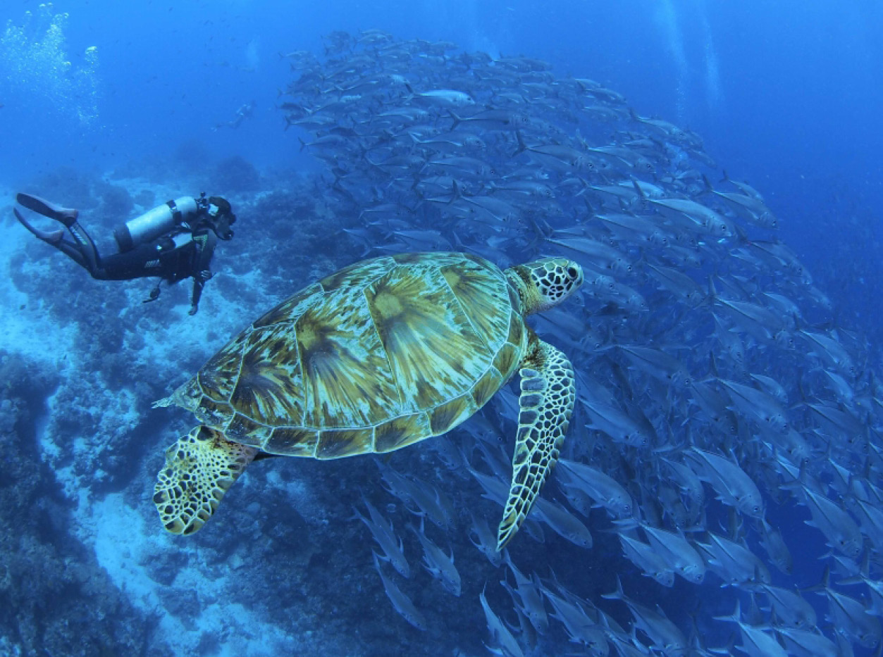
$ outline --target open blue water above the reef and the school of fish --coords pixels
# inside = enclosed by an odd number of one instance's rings
[[[66,17],[60,18],[63,14]],[[781,240],[795,250],[816,285],[832,298],[834,324],[850,335],[854,332],[858,342],[866,340],[868,358],[878,364],[883,340],[878,311],[883,295],[879,266],[883,5],[871,0],[335,0],[315,5],[281,0],[88,0],[50,6],[9,0],[0,6],[0,190],[7,195],[0,197],[4,213],[0,225],[11,217],[15,191],[37,193],[47,176],[69,175],[64,172],[71,168],[93,178],[120,170],[134,175],[140,168],[162,169],[166,162],[177,166],[186,159],[182,153],[192,153],[187,161],[197,177],[200,168],[213,169],[230,156],[240,156],[261,172],[272,173],[276,177],[268,179],[273,180],[321,170],[308,152],[300,151],[298,136],[304,133],[283,131],[283,113],[276,107],[278,91],[293,74],[280,53],[309,50],[321,54],[324,34],[335,30],[358,34],[367,28],[399,39],[452,41],[466,51],[481,50],[494,57],[542,59],[553,65],[556,76],[595,79],[623,93],[640,115],[697,132],[706,153],[720,168],[764,195],[779,218]],[[238,129],[212,130],[252,101],[253,117]],[[165,183],[166,189],[175,188],[174,180]],[[9,222],[4,229],[19,227]],[[242,235],[260,239],[260,216],[253,217]],[[32,247],[27,258],[11,262],[26,272],[23,262],[33,257]],[[234,267],[234,271],[245,275],[248,267]],[[28,304],[39,304],[39,299],[29,299]],[[115,314],[125,301],[111,296],[107,305],[106,319],[93,327],[102,340],[107,338],[103,332],[113,332]],[[2,310],[7,316],[17,312],[11,306]],[[0,337],[0,347],[14,353],[13,338]],[[216,348],[225,338],[212,334],[209,340]],[[127,344],[122,338],[114,342],[112,336],[105,342],[124,349],[119,345]],[[86,340],[79,343],[87,349],[85,344]],[[186,340],[182,344],[182,350],[192,347]],[[199,367],[213,351],[193,354],[188,362]],[[59,376],[64,377],[64,366],[58,367]],[[149,372],[139,370],[137,375],[149,377]],[[15,379],[16,385],[26,380],[24,376]],[[143,404],[140,411],[148,412]],[[41,410],[31,413],[40,415]],[[39,432],[34,431],[37,440]],[[149,432],[142,427],[138,435],[147,439]],[[148,448],[132,448],[133,461],[145,458],[148,451],[158,452],[155,439],[151,440]],[[298,462],[296,467],[309,464]],[[343,473],[345,467],[335,472]],[[98,480],[101,488],[101,477]],[[270,485],[278,486],[279,481],[272,480]],[[101,490],[122,489],[111,481]],[[71,490],[65,495],[65,504],[77,497]],[[283,505],[278,500],[275,504]],[[326,514],[328,521],[343,519],[348,508],[338,504]],[[808,518],[805,509],[801,513],[799,520]],[[789,525],[793,517],[779,519],[789,526],[795,540],[805,532],[807,541],[819,542],[818,533],[810,533],[799,523]],[[267,526],[261,531],[272,529]],[[51,532],[47,535],[51,542]],[[361,541],[367,541],[364,535]],[[817,547],[812,559],[823,549]],[[366,552],[364,544],[358,549]],[[345,552],[341,546],[326,545],[319,550],[334,550],[335,555],[337,550]],[[237,555],[246,562],[273,558],[257,549]],[[223,569],[228,556],[194,556],[188,565],[198,563],[208,571],[208,562]],[[798,552],[795,556],[800,558]],[[166,558],[170,568],[184,567],[177,557]],[[315,560],[309,563],[314,565]],[[370,564],[362,565],[370,571]],[[813,573],[819,570],[809,559],[806,566]],[[340,573],[326,567],[329,586],[336,586]],[[532,568],[545,577],[539,561]],[[799,586],[817,583],[796,582]],[[605,586],[595,586],[601,589],[595,593],[608,593]],[[681,594],[686,589],[679,581],[675,593],[665,593]],[[291,600],[280,605],[295,607],[298,595],[292,593]],[[347,595],[340,594],[340,599]],[[172,607],[162,595],[160,600],[166,608]],[[377,600],[387,604],[382,594]],[[494,600],[500,611],[502,600]],[[470,613],[474,612],[480,628],[481,611],[474,603],[470,599]],[[421,608],[428,604],[424,600]],[[328,616],[336,613],[330,608],[322,611]],[[729,611],[717,609],[715,613]],[[350,609],[349,613],[357,612]],[[622,620],[626,618],[623,614]],[[686,618],[677,620],[682,627],[688,624]],[[279,626],[288,627],[282,621]],[[410,631],[405,627],[402,633]],[[460,645],[479,650],[483,635],[472,631]],[[14,632],[9,635],[14,643]],[[719,638],[725,635],[721,631]],[[381,631],[371,636],[366,642],[376,640],[381,645],[389,640]],[[420,641],[419,636],[409,640]],[[260,638],[254,641],[260,643]],[[406,642],[403,639],[396,645]],[[218,654],[215,639],[200,643],[200,653]],[[272,653],[268,649],[267,654]],[[380,649],[376,652],[381,653]]]

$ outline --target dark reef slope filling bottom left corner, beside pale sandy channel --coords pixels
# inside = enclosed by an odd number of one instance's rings
[[[0,636],[4,648],[53,657],[165,657],[158,618],[133,608],[71,533],[70,508],[42,462],[37,433],[57,375],[0,352]]]

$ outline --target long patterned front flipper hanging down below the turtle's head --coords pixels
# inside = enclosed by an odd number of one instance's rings
[[[521,365],[521,412],[512,454],[512,484],[497,532],[498,551],[525,521],[555,466],[577,398],[570,361],[552,345],[532,336]]]

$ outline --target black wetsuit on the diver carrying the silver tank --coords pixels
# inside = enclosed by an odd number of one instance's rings
[[[167,283],[193,279],[191,304],[199,305],[202,287],[211,278],[209,265],[215,253],[215,231],[194,221],[197,228],[191,231],[177,227],[172,232],[136,246],[125,253],[115,253],[102,258],[92,238],[79,223],[68,229],[76,243],[62,240],[54,243],[74,262],[84,267],[92,278],[98,280],[132,280],[156,277]],[[158,295],[158,287],[151,300]]]

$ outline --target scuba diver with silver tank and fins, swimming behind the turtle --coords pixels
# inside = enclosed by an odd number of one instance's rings
[[[92,238],[79,225],[78,210],[61,207],[30,194],[18,194],[15,199],[19,205],[57,220],[67,228],[72,242],[64,239],[64,230],[43,231],[34,228],[18,208],[12,210],[22,226],[43,242],[62,251],[86,269],[92,278],[132,280],[159,277],[145,303],[159,298],[162,281],[171,285],[192,277],[191,315],[195,315],[199,309],[202,287],[212,277],[208,266],[215,245],[219,239],[227,241],[233,237],[230,226],[236,221],[230,203],[224,198],[206,198],[205,192],[200,198],[176,198],[114,230],[119,252],[102,258]]]

